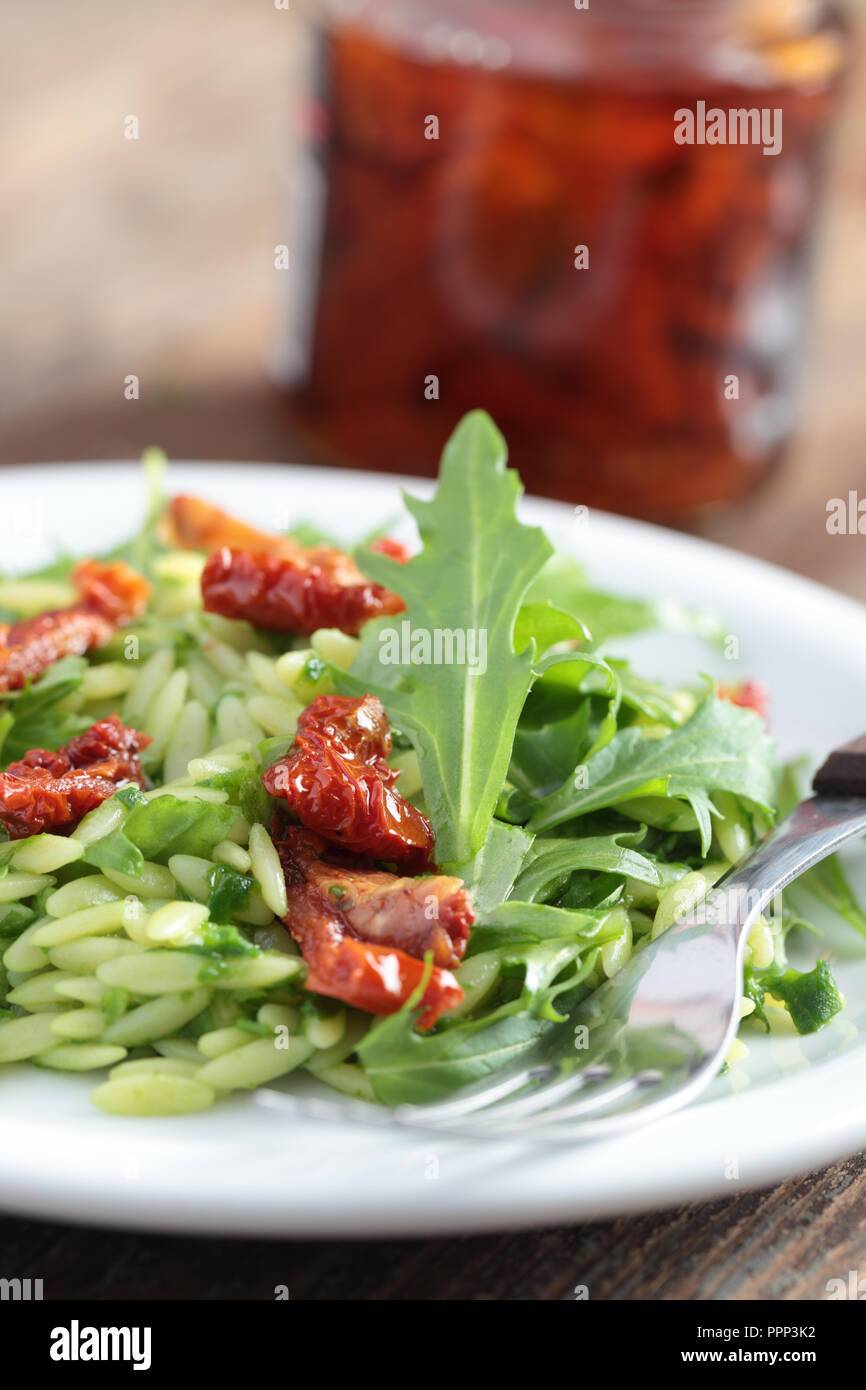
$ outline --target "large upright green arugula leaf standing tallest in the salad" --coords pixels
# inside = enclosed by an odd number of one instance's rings
[[[532,646],[516,651],[513,634],[550,543],[538,527],[517,521],[520,491],[502,435],[484,411],[473,411],[445,449],[434,500],[406,496],[421,552],[407,564],[373,552],[359,556],[371,578],[406,600],[400,620],[410,631],[484,639],[484,674],[468,663],[386,666],[379,638],[384,627],[393,631],[393,619],[368,623],[352,671],[335,673],[341,689],[379,695],[411,739],[446,866],[466,863],[484,844],[532,678]]]

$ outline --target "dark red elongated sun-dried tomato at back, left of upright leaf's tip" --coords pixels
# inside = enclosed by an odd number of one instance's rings
[[[281,555],[249,550],[217,550],[202,574],[202,596],[209,613],[240,617],[271,632],[314,632],[338,627],[356,635],[371,617],[400,613],[402,599],[348,573],[317,562],[289,560]],[[352,566],[354,570],[354,566]]]

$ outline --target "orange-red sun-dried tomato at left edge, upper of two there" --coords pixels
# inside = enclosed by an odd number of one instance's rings
[[[0,691],[21,689],[61,656],[104,646],[121,623],[143,613],[150,585],[122,560],[83,560],[72,571],[81,602],[0,627]]]

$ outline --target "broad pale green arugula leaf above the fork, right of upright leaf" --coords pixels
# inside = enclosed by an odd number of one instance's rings
[[[620,730],[588,759],[585,777],[571,778],[538,803],[527,828],[538,834],[632,796],[673,796],[692,808],[706,855],[712,792],[731,791],[770,813],[773,783],[773,742],[763,721],[710,691],[694,714],[663,738],[646,738],[635,727]]]

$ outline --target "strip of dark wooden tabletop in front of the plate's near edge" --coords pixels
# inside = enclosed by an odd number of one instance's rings
[[[767,1193],[520,1234],[193,1240],[0,1219],[0,1251],[46,1298],[801,1300],[865,1268],[865,1223],[860,1154]]]

